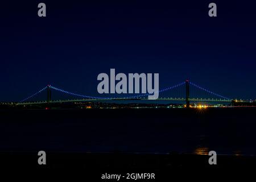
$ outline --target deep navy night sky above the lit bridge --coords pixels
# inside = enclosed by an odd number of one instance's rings
[[[47,6],[39,18],[38,3]],[[179,3],[177,3],[179,2]],[[210,2],[217,17],[208,16]],[[11,1],[0,4],[0,101],[47,84],[97,94],[97,75],[159,73],[229,98],[256,98],[253,1]]]

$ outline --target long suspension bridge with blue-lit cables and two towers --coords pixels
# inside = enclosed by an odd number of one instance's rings
[[[32,100],[32,98],[38,96],[40,93],[47,91],[47,99],[46,100]],[[65,100],[52,100],[52,91],[56,91],[59,93],[63,93],[66,96],[71,96],[73,98],[65,99]],[[203,92],[204,97],[199,97],[200,92]],[[127,97],[96,97],[96,96],[86,96],[79,93],[69,92],[67,90],[63,90],[57,88],[52,85],[47,85],[43,89],[40,89],[38,92],[32,94],[29,97],[24,98],[22,101],[16,103],[17,105],[33,105],[33,104],[51,104],[51,103],[64,103],[64,102],[104,102],[104,101],[152,101],[148,100],[148,96],[150,94],[137,94],[133,96]],[[223,102],[223,103],[231,103],[234,100],[232,98],[228,98],[225,96],[221,96],[220,94],[214,93],[208,89],[205,89],[189,80],[184,82],[180,82],[174,86],[170,86],[168,88],[164,88],[159,90],[159,97],[155,101],[175,101],[175,102],[185,102],[187,107],[189,107],[191,102]],[[242,102],[242,100],[240,100]]]

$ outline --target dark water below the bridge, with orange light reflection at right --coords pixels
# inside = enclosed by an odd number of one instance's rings
[[[256,155],[256,108],[1,110],[0,151]]]

